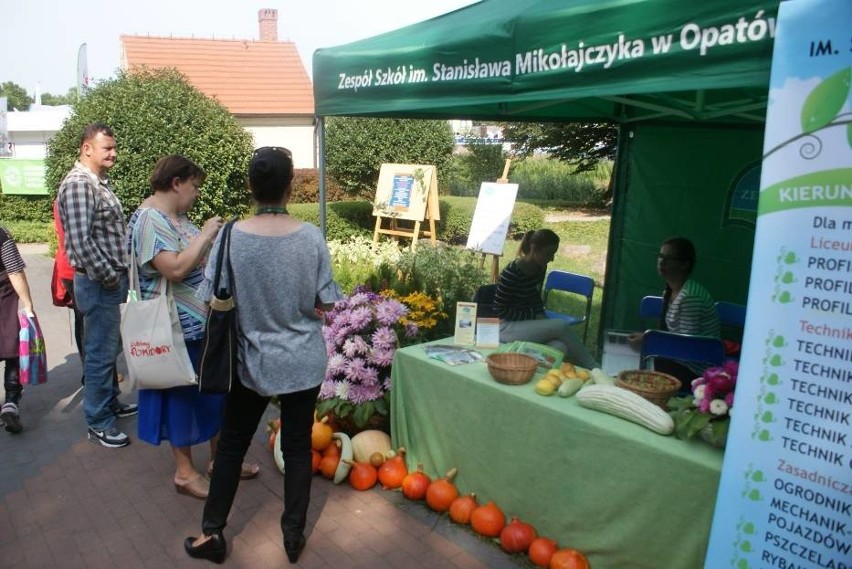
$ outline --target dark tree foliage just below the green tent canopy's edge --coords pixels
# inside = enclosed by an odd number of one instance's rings
[[[535,151],[574,164],[578,172],[594,170],[602,159],[614,159],[618,127],[607,123],[506,123],[503,136],[518,156]]]

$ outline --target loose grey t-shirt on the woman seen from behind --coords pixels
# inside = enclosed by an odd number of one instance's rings
[[[210,298],[217,237],[199,294]],[[261,395],[302,391],[319,385],[328,362],[322,338],[319,300],[340,300],[322,232],[303,223],[281,236],[231,231],[234,301],[240,327],[239,376]],[[226,273],[224,267],[223,273]]]

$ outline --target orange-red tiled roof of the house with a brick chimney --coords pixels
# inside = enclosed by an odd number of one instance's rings
[[[314,92],[287,41],[121,36],[122,68],[176,67],[234,115],[313,115]]]

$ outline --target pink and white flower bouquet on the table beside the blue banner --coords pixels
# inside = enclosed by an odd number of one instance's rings
[[[669,399],[678,438],[700,435],[713,446],[725,446],[738,371],[733,360],[723,367],[708,368],[692,381],[692,395]]]

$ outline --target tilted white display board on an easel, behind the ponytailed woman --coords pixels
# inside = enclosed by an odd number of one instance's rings
[[[503,254],[517,196],[518,184],[482,183],[467,236],[468,249],[491,255]]]

